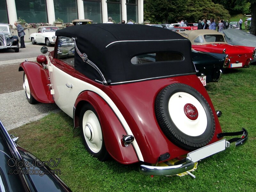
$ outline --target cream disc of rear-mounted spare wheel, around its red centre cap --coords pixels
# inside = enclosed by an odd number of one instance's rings
[[[195,120],[189,119],[184,112],[184,106],[188,103],[194,105],[198,111],[198,117]],[[174,93],[169,99],[168,109],[173,123],[181,132],[189,136],[199,136],[206,130],[206,113],[202,104],[194,96],[185,92]]]

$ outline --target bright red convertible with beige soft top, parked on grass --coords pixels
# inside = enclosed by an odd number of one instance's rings
[[[255,47],[228,44],[224,34],[215,30],[182,31],[180,34],[191,41],[192,48],[196,51],[228,54],[228,68],[250,67],[256,52]]]

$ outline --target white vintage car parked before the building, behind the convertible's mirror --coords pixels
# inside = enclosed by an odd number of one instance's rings
[[[55,44],[55,31],[57,31],[58,27],[55,26],[41,26],[38,28],[37,33],[32,33],[29,38],[33,45],[36,43],[45,43],[46,46],[51,46]]]

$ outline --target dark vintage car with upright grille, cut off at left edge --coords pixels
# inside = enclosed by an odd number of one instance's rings
[[[19,37],[12,33],[8,24],[0,23],[0,49],[14,49],[19,52]]]

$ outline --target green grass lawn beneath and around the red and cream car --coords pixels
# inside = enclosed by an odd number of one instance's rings
[[[216,110],[223,132],[249,132],[248,142],[206,158],[186,175],[146,176],[139,173],[139,164],[123,165],[110,159],[100,162],[90,156],[72,119],[60,112],[9,131],[20,138],[19,144],[43,161],[61,158],[56,169],[74,191],[255,191],[256,188],[256,65],[228,70],[218,83],[206,89]],[[228,138],[229,139],[229,138]],[[234,143],[233,143],[234,144]],[[56,160],[57,161],[57,160]]]

